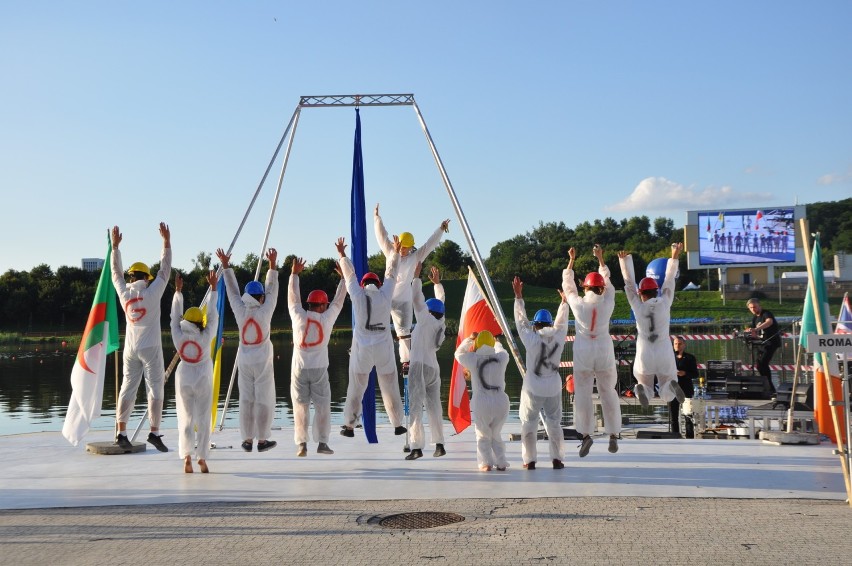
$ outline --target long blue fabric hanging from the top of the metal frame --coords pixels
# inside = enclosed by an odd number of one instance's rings
[[[360,280],[369,271],[367,267],[367,212],[364,205],[364,158],[361,156],[361,113],[355,109],[355,151],[352,156],[352,265]],[[355,309],[352,309],[352,324]],[[351,379],[351,377],[350,377]],[[371,444],[379,441],[376,436],[376,368],[370,372],[370,380],[361,399],[361,421],[364,435]]]

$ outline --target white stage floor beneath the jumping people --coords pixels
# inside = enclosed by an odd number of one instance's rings
[[[332,430],[333,455],[296,457],[292,429],[273,431],[278,446],[246,453],[239,431],[213,435],[217,448],[208,460],[211,473],[185,474],[177,454],[177,432],[165,430],[168,453],[152,446],[115,456],[70,446],[57,432],[0,437],[0,508],[27,509],[128,504],[225,501],[396,500],[540,497],[689,497],[804,498],[846,500],[834,445],[773,446],[759,440],[636,439],[620,441],[607,452],[595,438],[586,458],[577,441],[565,444],[565,469],[553,470],[547,442],[538,443],[538,469],[521,468],[520,443],[508,442],[511,467],[480,472],[473,428],[451,436],[445,425],[447,455],[404,460],[404,437],[380,425],[379,443],[368,444]],[[518,432],[507,426],[504,437]],[[631,435],[635,431],[631,431]],[[140,438],[144,438],[140,434]],[[86,442],[110,441],[108,431],[93,431]]]

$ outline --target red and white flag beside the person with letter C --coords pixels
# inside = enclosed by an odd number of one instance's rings
[[[472,332],[488,330],[494,336],[503,333],[497,318],[488,306],[488,302],[479,289],[476,275],[468,267],[467,288],[464,292],[461,315],[459,316],[459,334],[456,338],[456,348],[462,340]],[[464,379],[464,368],[453,360],[453,373],[450,376],[449,402],[447,413],[453,428],[457,433],[470,426],[470,396],[467,392],[467,382]]]

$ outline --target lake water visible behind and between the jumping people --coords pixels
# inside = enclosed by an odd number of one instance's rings
[[[228,383],[231,378],[236,345],[228,346],[226,342],[223,351],[223,375],[219,397],[219,415],[216,419],[218,426],[222,407],[228,393]],[[274,427],[292,425],[293,413],[290,398],[290,360],[292,358],[292,343],[289,336],[280,337],[274,341],[275,350],[275,384],[277,404]],[[348,384],[348,356],[350,339],[333,340],[329,345],[329,378],[332,397],[332,424],[337,426],[343,422],[343,404],[346,398]],[[20,434],[42,431],[61,431],[71,397],[71,369],[74,365],[77,345],[63,346],[61,343],[42,344],[39,346],[6,346],[0,347],[0,435]],[[452,356],[455,350],[455,340],[447,339],[438,352],[441,365],[442,394],[444,416],[446,418],[446,400],[449,390],[449,375],[452,368]],[[166,363],[174,355],[171,342],[164,344]],[[119,356],[120,356],[119,351]],[[104,384],[104,400],[101,417],[95,421],[93,428],[112,430],[115,421],[115,363],[110,356],[107,364],[107,377]],[[567,371],[564,371],[567,373]],[[120,380],[120,377],[119,377]],[[400,391],[402,378],[400,377]],[[506,376],[506,392],[511,401],[509,422],[518,422],[518,404],[521,391],[521,377],[517,367],[510,362]],[[234,383],[233,391],[226,411],[224,425],[227,428],[239,426],[238,404],[239,391]],[[174,376],[166,383],[165,406],[163,410],[164,429],[177,427],[175,416]],[[570,424],[570,409],[567,394],[563,399],[563,424]],[[381,395],[376,387],[376,422],[387,423]],[[137,404],[128,424],[128,429],[135,429],[147,408],[144,386],[140,387]],[[653,408],[642,409],[624,407],[625,412],[635,412],[653,416]],[[659,411],[658,411],[659,412]],[[659,416],[659,415],[658,415]],[[147,423],[143,427],[147,431]]]

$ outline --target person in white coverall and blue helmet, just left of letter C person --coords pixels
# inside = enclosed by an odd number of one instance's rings
[[[447,453],[444,449],[444,411],[441,407],[441,368],[438,365],[438,349],[444,342],[444,286],[441,273],[432,267],[429,280],[435,286],[435,298],[428,301],[423,296],[420,280],[421,264],[414,269],[411,294],[417,324],[411,333],[411,368],[408,373],[408,390],[411,399],[411,452],[406,460],[423,456],[425,434],[423,431],[423,406],[429,415],[429,429],[435,443],[434,457]]]

